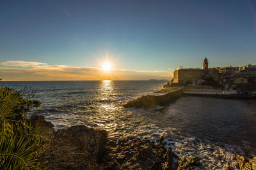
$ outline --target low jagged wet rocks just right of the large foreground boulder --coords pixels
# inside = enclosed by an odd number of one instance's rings
[[[176,155],[166,149],[165,143],[147,139],[120,139],[108,142],[106,169],[174,169]]]

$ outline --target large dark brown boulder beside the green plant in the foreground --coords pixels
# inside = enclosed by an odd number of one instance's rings
[[[40,160],[51,169],[100,169],[106,161],[108,134],[104,130],[76,125],[57,131],[51,148]]]

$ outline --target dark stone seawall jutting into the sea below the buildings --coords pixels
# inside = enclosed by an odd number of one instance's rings
[[[184,88],[181,87],[177,90],[173,90],[171,92],[167,92],[163,95],[147,95],[147,96],[141,96],[137,99],[133,99],[127,103],[124,104],[124,107],[126,108],[154,108],[155,106],[164,106],[166,104],[169,104],[172,101],[175,101],[175,99],[178,99],[183,94]]]

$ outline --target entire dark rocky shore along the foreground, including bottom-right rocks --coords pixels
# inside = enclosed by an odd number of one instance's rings
[[[29,118],[49,136],[49,146],[37,159],[42,169],[205,169],[196,157],[178,158],[161,136],[148,139],[108,139],[105,130],[76,125],[54,131],[42,115]],[[237,155],[237,168],[256,169],[256,157]]]

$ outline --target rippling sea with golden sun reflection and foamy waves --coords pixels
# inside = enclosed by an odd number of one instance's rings
[[[205,169],[236,169],[236,155],[256,156],[256,101],[180,97],[168,106],[124,108],[131,99],[161,89],[165,81],[2,81],[31,89],[56,130],[72,125],[99,127],[108,137],[157,141],[164,136],[178,157],[193,155]],[[166,147],[167,147],[166,146]]]

